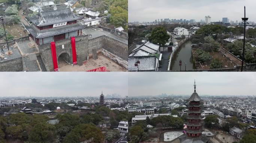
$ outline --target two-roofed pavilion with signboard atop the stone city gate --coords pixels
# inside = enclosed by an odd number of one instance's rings
[[[37,15],[26,17],[32,22],[25,28],[37,45],[82,35],[86,26],[77,23],[83,17],[76,15],[66,5],[39,9]]]

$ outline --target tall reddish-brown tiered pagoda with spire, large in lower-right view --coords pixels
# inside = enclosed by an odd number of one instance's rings
[[[202,136],[202,99],[196,93],[196,85],[194,84],[194,93],[188,99],[188,123],[186,128],[186,136],[180,137],[181,143],[207,143],[208,138]]]

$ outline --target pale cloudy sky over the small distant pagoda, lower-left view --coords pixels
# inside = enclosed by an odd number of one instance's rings
[[[1,72],[0,96],[128,95],[127,72]]]

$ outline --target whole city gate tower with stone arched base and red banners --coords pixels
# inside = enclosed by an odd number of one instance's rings
[[[86,26],[77,23],[82,18],[65,5],[39,9],[37,15],[26,18],[32,24],[25,28],[38,46],[46,69],[57,71],[60,58],[79,65],[86,60],[88,36],[82,34]]]

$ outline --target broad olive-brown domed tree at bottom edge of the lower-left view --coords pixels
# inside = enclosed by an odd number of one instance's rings
[[[103,138],[100,128],[92,124],[80,124],[67,134],[63,143],[80,143],[84,141],[101,143]]]

